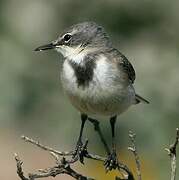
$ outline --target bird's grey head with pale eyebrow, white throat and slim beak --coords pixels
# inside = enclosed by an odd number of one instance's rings
[[[55,41],[40,46],[35,51],[55,49],[64,57],[84,49],[98,49],[110,46],[104,29],[94,22],[83,22],[67,28]]]

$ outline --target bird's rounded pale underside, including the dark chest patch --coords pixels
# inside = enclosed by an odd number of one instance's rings
[[[120,102],[127,96],[126,87],[120,82],[118,69],[108,63],[105,57],[89,66],[92,69],[87,72],[84,69],[76,72],[74,65],[68,60],[63,64],[62,85],[72,104],[84,113],[118,111]]]

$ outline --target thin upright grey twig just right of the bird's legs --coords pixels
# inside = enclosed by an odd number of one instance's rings
[[[142,180],[141,165],[140,165],[139,155],[137,152],[136,141],[135,141],[136,134],[134,134],[132,131],[130,131],[129,137],[130,137],[132,145],[131,145],[131,147],[128,147],[128,149],[134,154],[134,157],[135,157],[136,168],[137,168],[137,178],[138,178],[138,180]]]

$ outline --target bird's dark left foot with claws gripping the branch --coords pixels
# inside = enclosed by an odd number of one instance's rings
[[[86,140],[85,144],[83,144],[81,140],[78,140],[74,154],[73,154],[73,158],[79,159],[79,161],[82,164],[84,164],[84,158],[88,154],[87,145],[88,145],[88,140]]]

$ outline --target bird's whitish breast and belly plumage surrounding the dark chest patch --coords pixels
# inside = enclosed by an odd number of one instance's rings
[[[62,70],[62,85],[71,103],[88,115],[114,116],[125,111],[134,102],[132,85],[125,86],[120,81],[117,69],[101,59],[89,86],[78,86],[74,70],[66,60]],[[117,74],[117,76],[115,75]]]

